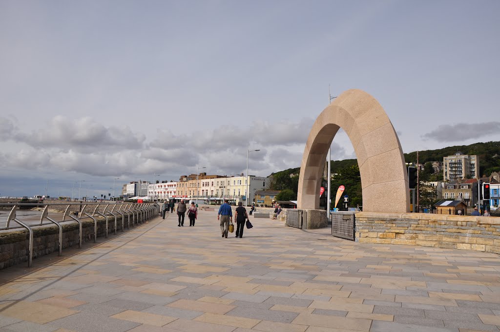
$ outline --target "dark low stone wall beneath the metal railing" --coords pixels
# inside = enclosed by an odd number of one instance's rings
[[[105,235],[106,221],[104,217],[97,219],[97,236]],[[116,222],[117,234],[121,232],[121,215]],[[130,219],[130,223],[132,220]],[[125,217],[125,227],[127,218]],[[114,217],[108,221],[108,235],[114,231]],[[85,220],[82,222],[82,242],[93,241],[94,222]],[[0,232],[0,269],[28,260],[29,240],[28,231],[14,230]],[[33,261],[36,257],[49,254],[58,250],[59,228],[53,226],[41,226],[33,228]],[[78,245],[78,223],[76,221],[67,221],[62,223],[62,254],[64,248]]]

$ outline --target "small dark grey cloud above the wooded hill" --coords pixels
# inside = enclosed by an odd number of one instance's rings
[[[440,142],[463,141],[479,138],[500,131],[500,122],[441,124],[434,130],[422,135],[423,139],[433,139]]]

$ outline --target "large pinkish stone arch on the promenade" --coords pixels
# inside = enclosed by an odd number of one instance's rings
[[[312,125],[300,165],[298,208],[319,208],[326,154],[338,128],[347,133],[356,153],[363,211],[408,212],[408,175],[397,134],[378,101],[358,89],[342,92]]]

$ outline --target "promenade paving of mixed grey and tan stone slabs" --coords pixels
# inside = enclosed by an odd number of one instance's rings
[[[0,331],[498,331],[498,255],[175,217],[1,270]]]

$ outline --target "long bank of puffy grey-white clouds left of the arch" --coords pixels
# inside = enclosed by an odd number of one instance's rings
[[[39,129],[22,131],[16,119],[1,118],[5,138],[20,149],[1,152],[0,167],[43,172],[47,169],[88,176],[135,176],[152,173],[175,176],[195,173],[205,166],[208,173],[249,172],[268,175],[298,167],[312,119],[253,121],[224,125],[210,131],[184,133],[157,130],[145,135],[129,127],[106,126],[97,119],[55,116]]]

